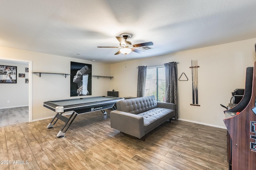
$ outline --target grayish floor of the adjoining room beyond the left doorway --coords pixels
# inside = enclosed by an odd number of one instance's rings
[[[28,122],[28,106],[0,109],[0,127]]]

